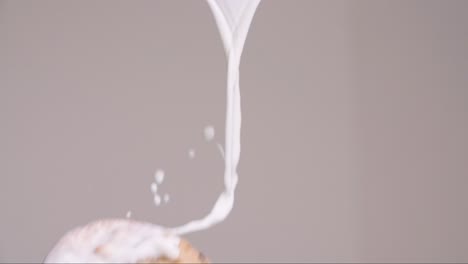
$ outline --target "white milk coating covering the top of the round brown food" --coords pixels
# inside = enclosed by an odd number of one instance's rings
[[[165,228],[131,220],[103,220],[66,234],[45,263],[136,263],[179,256],[180,239]]]

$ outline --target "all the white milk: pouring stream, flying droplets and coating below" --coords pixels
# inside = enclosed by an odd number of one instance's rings
[[[146,258],[179,256],[177,235],[209,228],[223,221],[234,205],[237,185],[237,164],[240,156],[241,104],[239,62],[255,10],[260,0],[208,0],[213,11],[228,59],[225,148],[218,148],[225,160],[225,190],[212,211],[203,219],[181,227],[167,229],[149,223],[127,220],[107,220],[88,224],[65,235],[49,253],[46,263],[134,263]],[[214,138],[214,128],[205,129],[205,139]],[[190,155],[190,154],[189,154]],[[190,155],[194,156],[194,155]],[[164,171],[158,170],[155,183],[164,181]],[[154,203],[161,203],[157,185],[151,185]],[[169,196],[163,196],[164,202]],[[127,218],[131,217],[131,212]]]

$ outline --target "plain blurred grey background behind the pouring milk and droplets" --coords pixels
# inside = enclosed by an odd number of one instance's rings
[[[225,78],[204,1],[0,1],[0,261],[204,216]],[[468,1],[264,1],[241,93],[235,208],[188,236],[213,261],[468,262]]]

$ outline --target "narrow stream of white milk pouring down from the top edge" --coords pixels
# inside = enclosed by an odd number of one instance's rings
[[[250,23],[259,3],[260,0],[208,0],[228,60],[225,150],[223,151],[218,145],[224,156],[225,190],[207,216],[174,228],[172,231],[177,235],[204,230],[223,221],[234,205],[241,136],[239,65]],[[214,136],[214,130],[205,129],[207,140],[211,140],[212,136]]]

